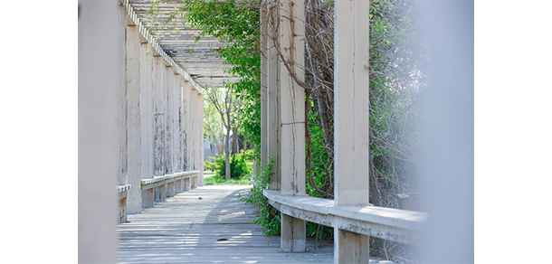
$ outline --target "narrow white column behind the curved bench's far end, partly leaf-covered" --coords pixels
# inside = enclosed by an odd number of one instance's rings
[[[270,5],[276,5],[273,0]],[[268,8],[268,6],[267,6]],[[280,151],[280,63],[278,62],[278,54],[276,51],[274,38],[277,35],[272,35],[277,29],[272,27],[271,22],[278,19],[278,9],[268,14],[269,23],[267,23],[267,32],[271,35],[267,49],[267,156],[271,156],[274,164],[272,165],[271,176],[268,188],[271,190],[281,190],[281,151]],[[268,161],[267,161],[268,162]]]

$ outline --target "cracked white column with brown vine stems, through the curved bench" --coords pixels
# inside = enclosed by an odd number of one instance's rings
[[[287,61],[304,65],[304,2],[282,0],[281,52]],[[293,66],[299,80],[304,71]],[[281,66],[281,194],[305,195],[305,92]],[[305,251],[305,221],[281,214],[281,249],[284,252]]]

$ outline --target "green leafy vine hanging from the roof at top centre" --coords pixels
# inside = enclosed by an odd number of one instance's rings
[[[225,83],[243,105],[238,109],[240,132],[247,143],[259,152],[261,145],[261,55],[259,7],[253,0],[185,0],[188,23],[200,34],[213,35],[229,43],[214,50],[233,65],[228,72],[240,76],[235,83]],[[198,37],[195,41],[201,38]]]

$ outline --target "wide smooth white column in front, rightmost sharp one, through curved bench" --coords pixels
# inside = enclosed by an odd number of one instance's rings
[[[368,205],[368,8],[368,0],[335,2],[336,205]],[[368,263],[368,257],[368,236],[335,228],[335,263]]]

